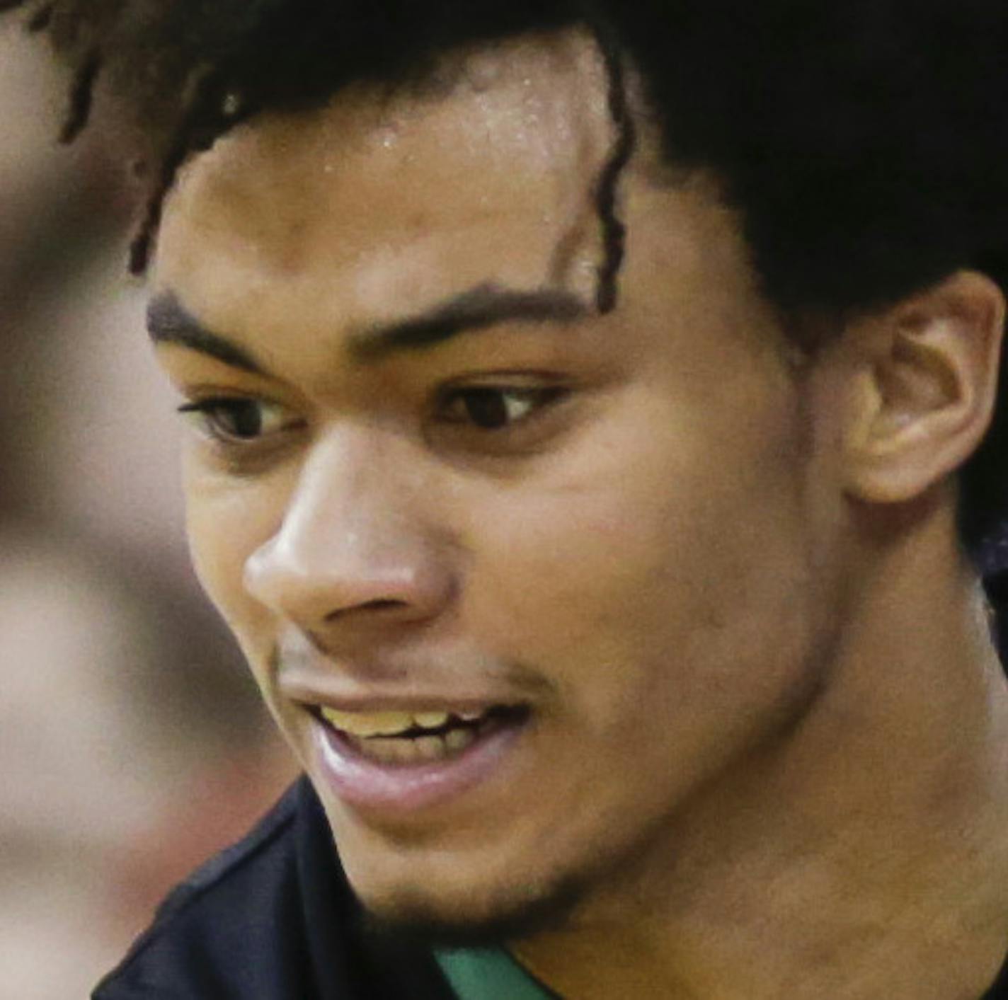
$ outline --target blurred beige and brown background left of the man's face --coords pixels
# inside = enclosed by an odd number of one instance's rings
[[[110,136],[0,19],[0,997],[86,997],[293,764],[190,570]]]

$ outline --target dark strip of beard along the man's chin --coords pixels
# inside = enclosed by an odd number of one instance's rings
[[[405,947],[492,948],[566,926],[585,895],[577,879],[548,888],[508,886],[482,900],[450,901],[413,890],[381,902],[362,898],[368,933]]]

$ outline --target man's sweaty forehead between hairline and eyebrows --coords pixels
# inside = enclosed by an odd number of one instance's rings
[[[268,286],[331,319],[329,288],[348,319],[378,320],[405,297],[422,307],[456,290],[436,286],[446,272],[457,286],[568,277],[543,266],[565,266],[558,248],[591,213],[607,97],[595,46],[565,35],[460,56],[422,93],[355,90],[263,115],[180,175],[155,282],[201,318]]]

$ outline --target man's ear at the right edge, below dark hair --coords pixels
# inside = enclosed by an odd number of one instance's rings
[[[848,330],[855,353],[844,449],[849,495],[913,500],[970,458],[994,412],[1004,325],[998,285],[959,271]]]

